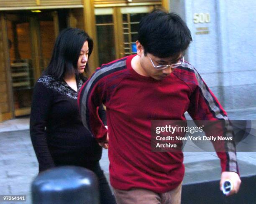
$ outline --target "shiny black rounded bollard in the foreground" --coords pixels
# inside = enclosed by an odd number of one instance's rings
[[[33,204],[99,204],[96,175],[83,167],[63,166],[38,174],[32,185]]]

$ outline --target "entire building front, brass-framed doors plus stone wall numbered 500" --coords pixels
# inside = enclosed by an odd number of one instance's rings
[[[78,27],[94,40],[91,70],[136,52],[138,22],[163,6],[187,23],[185,58],[225,109],[256,107],[254,0],[0,0],[0,121],[30,113],[54,40]]]

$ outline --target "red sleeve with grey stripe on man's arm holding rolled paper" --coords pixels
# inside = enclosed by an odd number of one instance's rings
[[[205,131],[206,136],[209,137],[213,133],[215,135],[233,138],[233,127],[228,119],[227,113],[196,70],[195,84],[196,86],[189,98],[190,104],[187,110],[189,115],[197,122],[204,121],[202,123],[205,124],[205,126],[208,124],[208,128],[205,128],[207,130]],[[199,124],[197,124],[197,126],[198,125]],[[238,173],[234,140],[217,140],[216,142],[212,142],[212,144],[220,158],[222,172]]]

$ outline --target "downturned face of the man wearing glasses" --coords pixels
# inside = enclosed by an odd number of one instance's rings
[[[169,76],[172,73],[174,68],[169,66],[163,70],[157,70],[154,65],[172,65],[179,62],[180,58],[182,57],[182,53],[164,58],[156,57],[150,53],[147,53],[145,56],[143,46],[140,44],[140,42],[137,41],[136,45],[137,54],[140,56],[141,72],[144,76],[152,77],[155,80],[163,80],[165,77]],[[153,63],[151,62],[151,60]]]

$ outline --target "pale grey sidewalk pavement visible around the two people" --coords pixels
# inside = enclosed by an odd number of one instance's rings
[[[231,120],[256,120],[256,108],[227,111]],[[29,136],[29,119],[13,119],[0,123],[0,195],[26,195],[31,203],[30,185],[38,174],[38,162]],[[256,174],[256,152],[238,152],[241,176]],[[108,150],[100,160],[107,177]],[[220,162],[215,152],[184,152],[183,184],[220,179]]]

